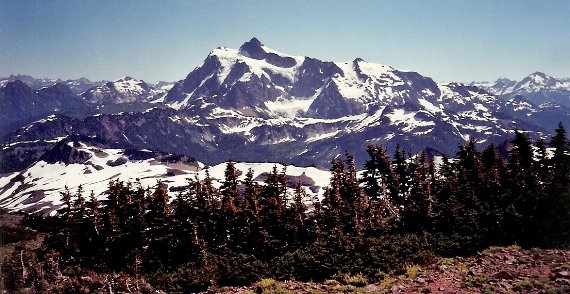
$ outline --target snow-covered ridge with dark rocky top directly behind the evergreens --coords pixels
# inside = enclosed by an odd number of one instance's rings
[[[236,163],[235,166],[241,174],[240,180],[251,168],[254,179],[260,183],[274,166],[279,172],[286,168],[289,189],[293,190],[300,182],[309,195],[304,199],[308,204],[322,197],[323,187],[330,178],[328,170],[314,167],[274,163]],[[104,148],[94,142],[61,140],[26,170],[0,177],[0,207],[49,214],[61,206],[61,192],[66,186],[75,193],[81,185],[84,197],[93,192],[103,199],[112,180],[135,185],[138,182],[144,188],[154,187],[161,181],[173,199],[176,192],[188,186],[188,179],[196,176],[204,179],[206,169],[219,188],[225,168],[225,163],[205,167],[198,161],[162,152]]]

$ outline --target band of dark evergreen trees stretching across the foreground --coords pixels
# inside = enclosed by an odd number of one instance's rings
[[[348,152],[331,161],[324,199],[313,203],[285,170],[275,166],[259,184],[251,169],[239,180],[232,161],[220,188],[206,171],[173,199],[161,183],[150,189],[112,181],[103,201],[86,199],[81,187],[66,190],[56,216],[27,218],[49,234],[33,254],[20,248],[6,258],[6,285],[195,292],[262,277],[363,274],[379,281],[407,264],[489,246],[568,248],[563,125],[548,143],[516,131],[509,146],[502,158],[492,144],[480,151],[470,140],[436,164],[426,152],[397,147],[391,158],[370,145],[360,173]],[[99,279],[82,279],[89,273]]]

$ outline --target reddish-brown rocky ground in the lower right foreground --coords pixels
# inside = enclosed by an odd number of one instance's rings
[[[570,293],[570,251],[492,247],[476,256],[442,258],[386,275],[379,284],[345,276],[324,283],[262,280],[208,293]]]

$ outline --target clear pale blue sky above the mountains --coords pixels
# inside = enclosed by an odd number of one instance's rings
[[[0,0],[0,76],[183,79],[253,36],[436,81],[570,77],[570,1]]]

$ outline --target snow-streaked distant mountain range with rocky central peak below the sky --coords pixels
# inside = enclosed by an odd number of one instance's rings
[[[176,83],[0,79],[0,165],[22,170],[69,136],[206,164],[328,166],[346,150],[362,163],[368,144],[453,155],[470,138],[501,144],[515,129],[549,136],[570,122],[569,81],[533,73],[520,82],[441,84],[359,58],[291,56],[253,38],[214,49]]]

